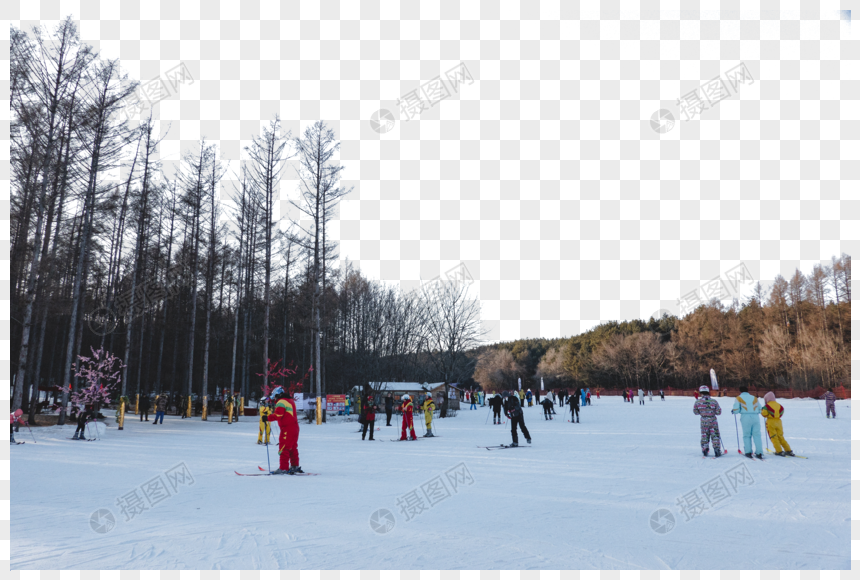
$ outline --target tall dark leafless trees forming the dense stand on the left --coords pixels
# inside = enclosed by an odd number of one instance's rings
[[[70,18],[12,28],[11,72],[13,407],[32,415],[40,386],[67,402],[91,347],[122,359],[121,396],[247,398],[276,361],[313,368],[316,395],[471,374],[480,312],[464,285],[404,292],[339,267],[327,224],[349,190],[324,122],[294,137],[276,117],[237,167],[203,139],[167,175],[157,123],[119,114],[136,83]],[[279,215],[285,180],[295,221]]]

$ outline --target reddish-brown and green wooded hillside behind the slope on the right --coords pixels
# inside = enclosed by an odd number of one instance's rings
[[[849,384],[851,257],[834,257],[769,292],[757,284],[743,304],[719,301],[678,318],[607,322],[559,340],[484,347],[475,380],[490,390],[574,385],[695,388],[715,369],[721,386],[811,390]]]

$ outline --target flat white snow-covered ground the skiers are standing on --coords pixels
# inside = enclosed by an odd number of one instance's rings
[[[237,477],[266,466],[250,417],[129,417],[97,442],[71,441],[65,426],[34,430],[33,444],[24,429],[28,443],[11,448],[11,565],[850,569],[850,402],[826,420],[816,401],[780,401],[786,438],[809,459],[760,462],[738,455],[731,399],[719,401],[720,459],[701,456],[693,399],[605,397],[580,424],[527,408],[529,449],[479,447],[510,442],[487,408],[408,443],[390,441],[399,430],[384,416],[374,442],[357,423],[302,424],[301,464],[318,477]],[[135,495],[147,509],[127,519],[118,501]],[[112,515],[93,519],[100,509]]]

